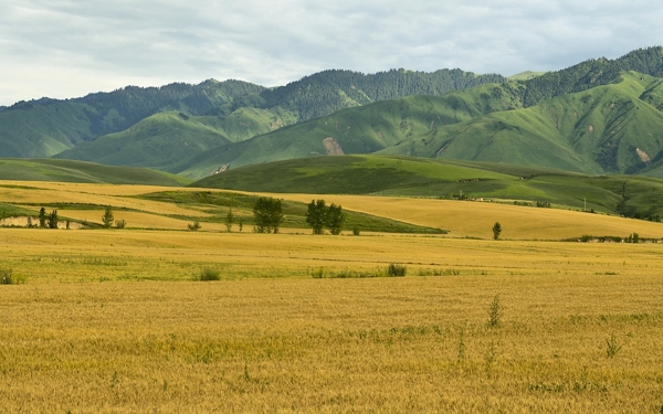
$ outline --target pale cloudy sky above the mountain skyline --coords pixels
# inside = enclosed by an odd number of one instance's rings
[[[0,105],[327,68],[513,75],[663,44],[660,0],[2,0]]]

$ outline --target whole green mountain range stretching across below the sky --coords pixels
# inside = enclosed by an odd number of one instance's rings
[[[201,178],[341,153],[663,177],[663,47],[511,79],[325,71],[275,88],[210,79],[0,108],[0,157]]]

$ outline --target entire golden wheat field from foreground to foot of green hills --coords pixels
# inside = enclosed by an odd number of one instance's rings
[[[663,244],[544,242],[534,238],[564,232],[525,230],[550,221],[588,226],[570,236],[660,238],[657,224],[325,197],[451,233],[187,232],[172,216],[186,205],[127,197],[155,188],[25,187],[40,189],[0,188],[0,201],[135,203],[127,221],[152,224],[0,229],[0,270],[24,282],[0,285],[2,412],[662,410]],[[496,220],[514,240],[490,240]],[[592,223],[604,227],[583,231]],[[389,264],[407,275],[371,277]],[[209,269],[220,280],[196,280]]]

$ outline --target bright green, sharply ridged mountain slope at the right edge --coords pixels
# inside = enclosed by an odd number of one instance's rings
[[[630,73],[618,84],[436,128],[380,153],[633,173],[645,167],[635,148],[652,159],[663,150],[663,113],[648,103],[660,96],[660,79]]]

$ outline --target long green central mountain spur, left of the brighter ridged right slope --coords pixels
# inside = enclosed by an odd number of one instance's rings
[[[345,153],[370,153],[410,137],[421,137],[435,126],[456,124],[482,114],[518,107],[511,96],[491,99],[496,85],[482,85],[441,97],[411,96],[344,109],[330,116],[278,129],[248,141],[213,148],[171,170],[204,177],[230,163],[231,168],[327,153],[323,145],[334,138]]]

